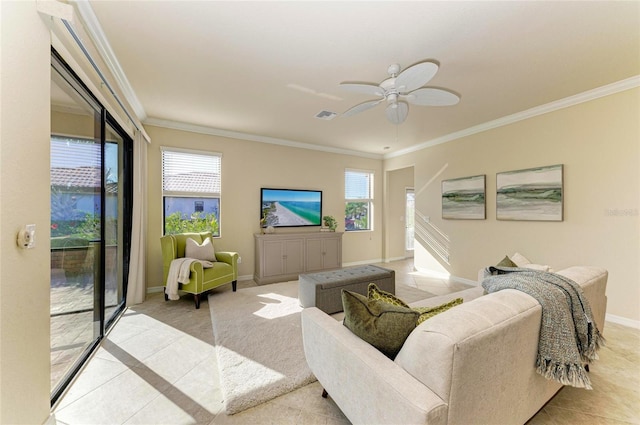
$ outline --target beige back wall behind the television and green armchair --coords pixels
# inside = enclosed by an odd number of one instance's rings
[[[382,258],[382,161],[308,149],[229,139],[201,133],[146,126],[152,144],[148,151],[147,288],[162,286],[162,187],[161,146],[222,153],[221,237],[217,250],[237,251],[242,263],[238,274],[254,272],[254,233],[260,231],[260,188],[319,189],[323,214],[333,215],[344,231],[344,170],[356,168],[375,173],[373,232],[343,236],[343,263],[365,263]],[[282,228],[277,232],[300,232]],[[310,228],[317,231],[318,228]]]

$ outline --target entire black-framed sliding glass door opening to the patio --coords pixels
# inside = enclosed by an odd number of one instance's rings
[[[132,142],[55,52],[51,70],[52,403],[124,309]]]

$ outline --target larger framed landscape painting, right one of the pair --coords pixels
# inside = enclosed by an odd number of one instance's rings
[[[563,166],[496,174],[498,220],[562,221]]]

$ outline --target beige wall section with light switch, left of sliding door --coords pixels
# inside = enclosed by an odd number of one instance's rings
[[[0,2],[0,423],[49,416],[49,31],[35,1]],[[36,225],[36,247],[16,245]]]

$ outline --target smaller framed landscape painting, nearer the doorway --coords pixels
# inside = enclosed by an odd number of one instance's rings
[[[484,220],[486,176],[442,181],[442,218]]]

